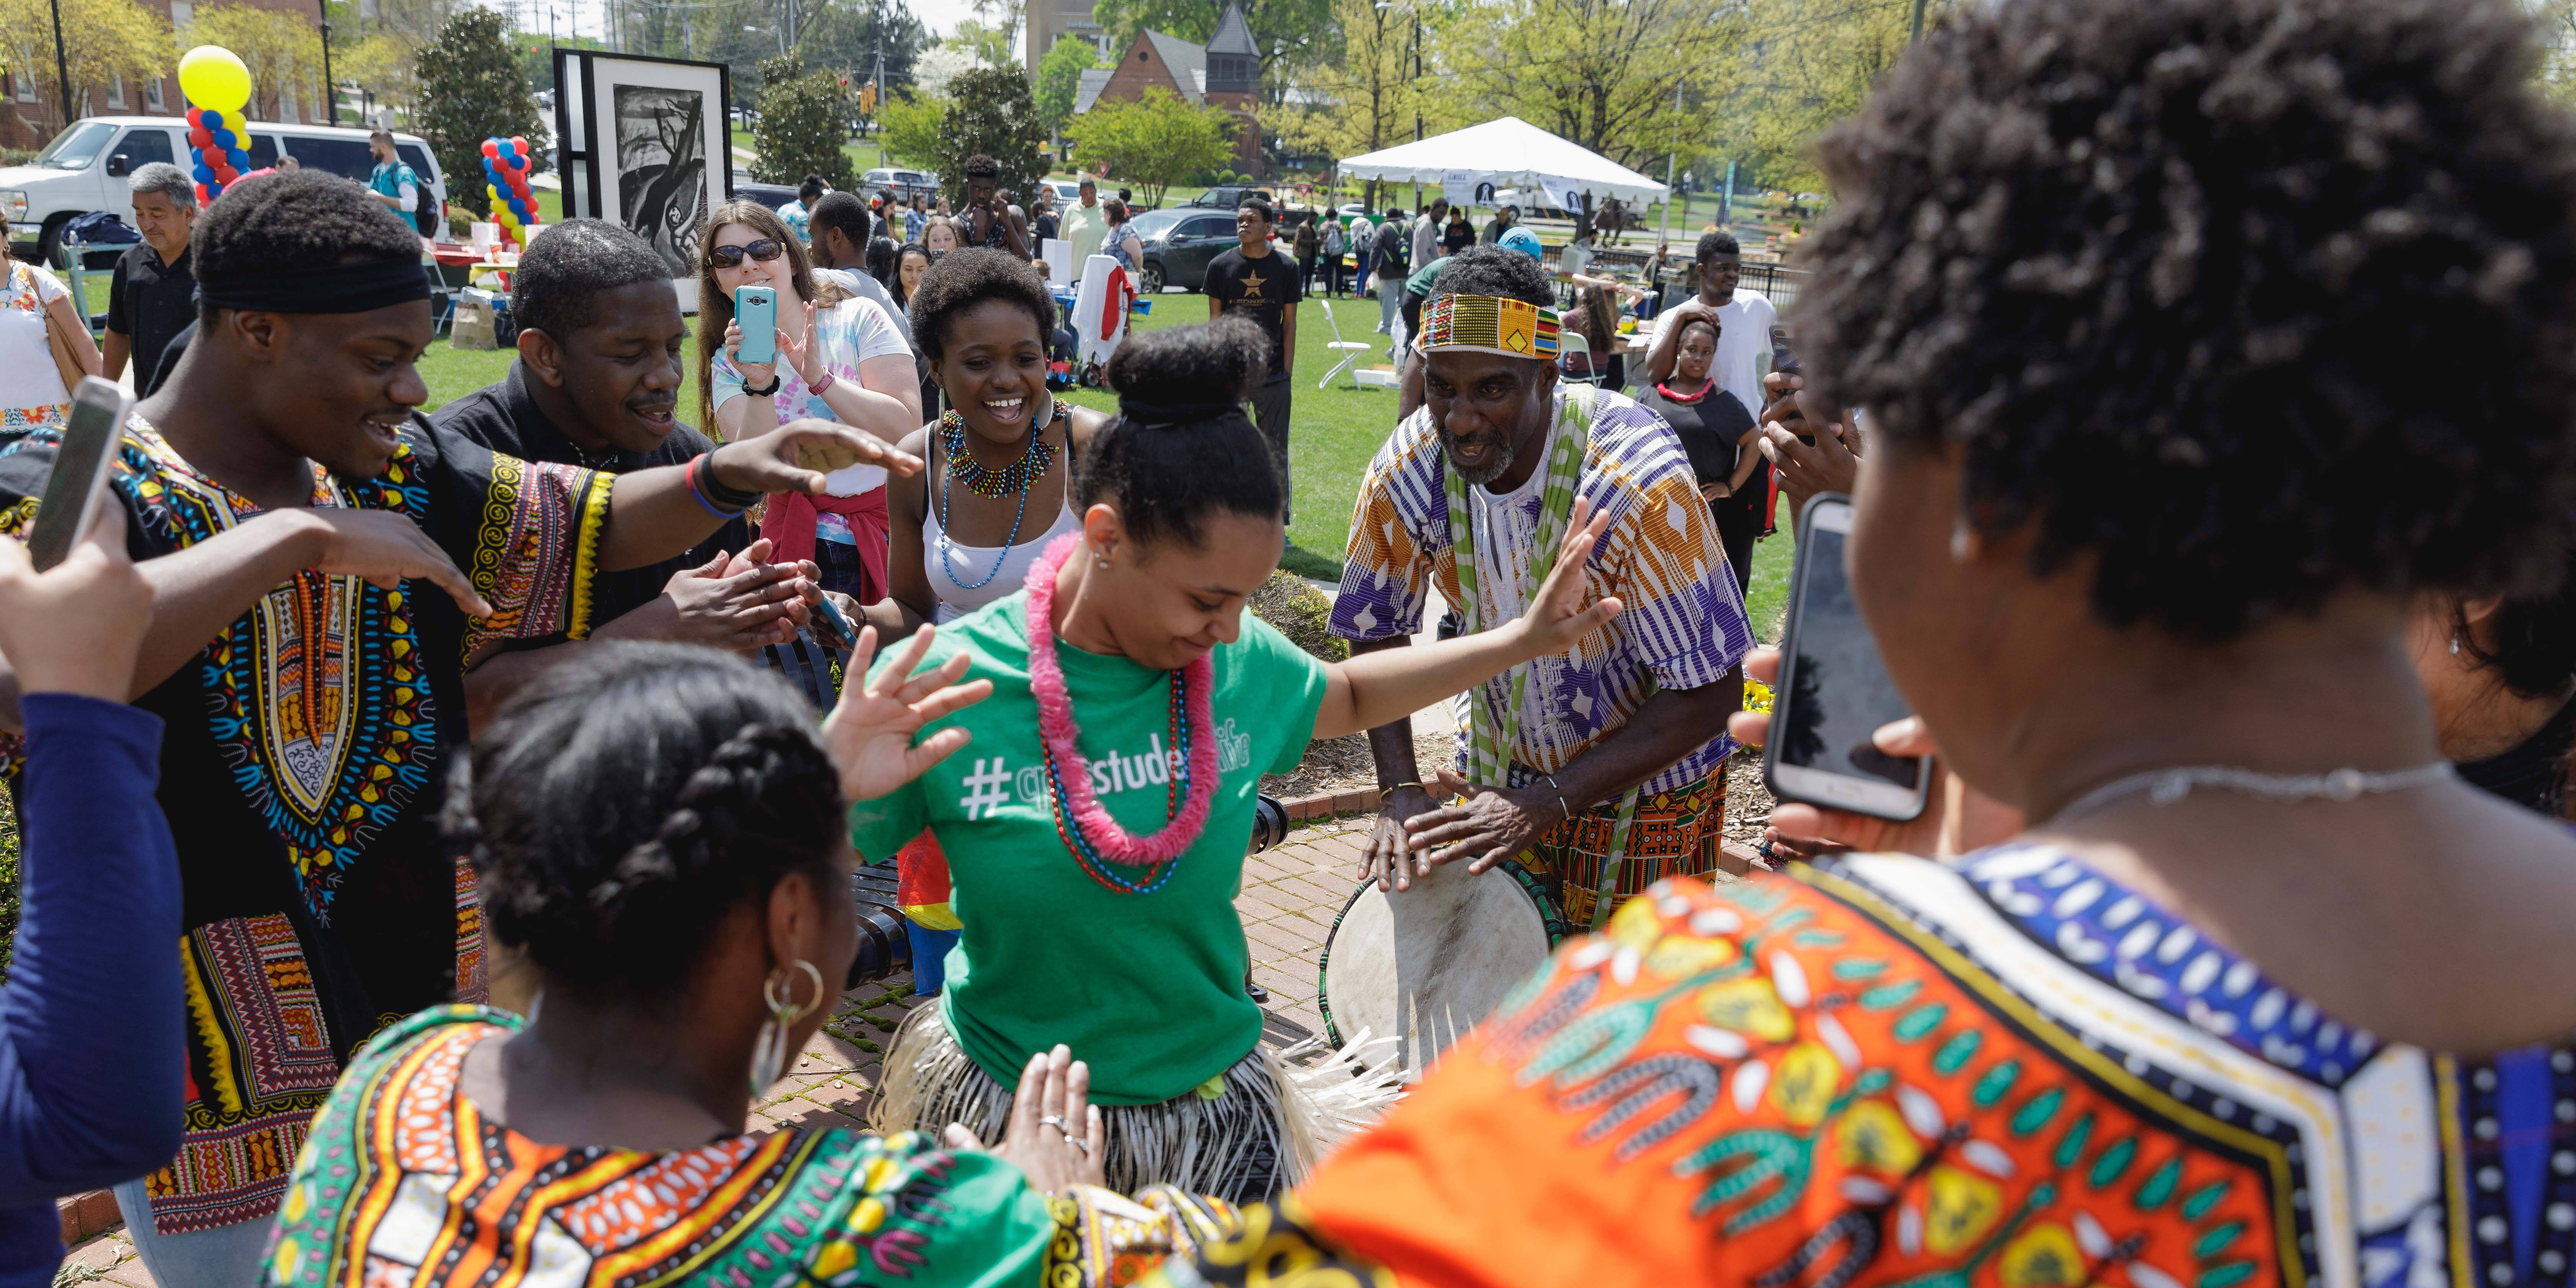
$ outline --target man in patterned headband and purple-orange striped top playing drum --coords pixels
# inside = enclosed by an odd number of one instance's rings
[[[1548,299],[1528,255],[1448,260],[1422,309],[1425,407],[1360,484],[1332,631],[1355,654],[1409,644],[1432,582],[1468,631],[1510,621],[1571,502],[1610,515],[1589,590],[1625,613],[1476,690],[1463,778],[1422,773],[1409,719],[1368,732],[1386,806],[1363,876],[1406,889],[1432,863],[1517,858],[1592,925],[1605,855],[1625,855],[1620,896],[1718,868],[1754,634],[1680,440],[1623,394],[1558,384]]]

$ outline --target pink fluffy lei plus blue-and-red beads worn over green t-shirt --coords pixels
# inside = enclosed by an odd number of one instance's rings
[[[1170,822],[1151,837],[1128,835],[1092,793],[1092,762],[1082,757],[1082,726],[1074,721],[1074,701],[1064,688],[1064,667],[1056,662],[1056,572],[1079,546],[1077,533],[1059,536],[1028,564],[1023,582],[1028,587],[1028,688],[1038,698],[1038,742],[1046,750],[1056,835],[1103,889],[1154,894],[1172,878],[1180,855],[1198,845],[1216,804],[1216,783],[1224,778],[1216,765],[1216,714],[1211,711],[1216,665],[1203,654],[1172,672],[1170,732],[1180,768],[1170,770],[1164,781]],[[1144,873],[1126,878],[1113,863],[1144,868]]]

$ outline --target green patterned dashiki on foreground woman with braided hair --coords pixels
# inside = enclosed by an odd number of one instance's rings
[[[440,1007],[368,1043],[296,1162],[270,1288],[1126,1285],[1236,1221],[1172,1190],[1048,1200],[1007,1162],[917,1133],[536,1144],[461,1090],[466,1051],[520,1028]]]

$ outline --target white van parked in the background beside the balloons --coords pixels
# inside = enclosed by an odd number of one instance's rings
[[[250,147],[242,149],[250,152],[245,170],[294,157],[307,170],[366,183],[376,170],[366,134],[345,126],[252,121]],[[438,173],[438,160],[430,157],[425,139],[394,134],[394,152],[446,201],[446,175]],[[52,263],[62,224],[72,216],[111,211],[131,224],[134,198],[126,191],[126,175],[157,160],[188,167],[185,116],[82,116],[72,121],[44,152],[36,152],[33,162],[0,170],[0,216],[8,219],[10,245]]]

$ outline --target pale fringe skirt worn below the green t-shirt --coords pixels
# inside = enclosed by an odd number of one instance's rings
[[[1358,1043],[1355,1043],[1358,1046]],[[1303,1043],[1301,1043],[1303,1048]],[[1136,1193],[1177,1185],[1229,1203],[1262,1203],[1306,1180],[1316,1157],[1376,1121],[1401,1092],[1386,1066],[1363,1069],[1337,1054],[1314,1069],[1288,1066],[1267,1046],[1234,1061],[1218,1095],[1182,1092],[1159,1105],[1100,1105],[1108,1128],[1108,1188]],[[966,1123],[984,1144],[1002,1141],[1015,1087],[994,1082],[948,1033],[943,1007],[914,1007],[886,1051],[871,1123],[876,1131],[930,1131]]]

